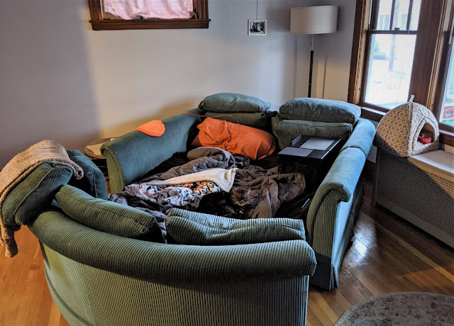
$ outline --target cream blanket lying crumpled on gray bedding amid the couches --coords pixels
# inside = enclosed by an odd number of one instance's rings
[[[147,181],[145,184],[150,186],[166,186],[175,184],[189,184],[190,182],[197,181],[211,181],[214,182],[223,191],[230,191],[235,180],[237,169],[208,169],[201,172],[185,174],[183,176],[175,176],[167,180],[152,180]]]

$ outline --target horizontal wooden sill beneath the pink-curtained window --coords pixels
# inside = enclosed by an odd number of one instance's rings
[[[122,19],[91,20],[93,30],[137,30],[208,28],[210,19]]]

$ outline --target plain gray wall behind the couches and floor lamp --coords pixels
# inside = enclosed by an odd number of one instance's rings
[[[289,33],[289,9],[314,4],[341,6],[338,33],[316,35],[314,96],[346,100],[355,0],[260,0],[265,36],[247,35],[255,0],[209,0],[208,29],[115,31],[91,29],[85,0],[1,0],[0,167],[39,140],[82,149],[209,94],[275,109],[306,96],[311,37]]]

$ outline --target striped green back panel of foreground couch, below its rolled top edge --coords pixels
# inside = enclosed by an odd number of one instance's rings
[[[157,281],[43,252],[50,293],[70,325],[305,325],[309,276]]]

